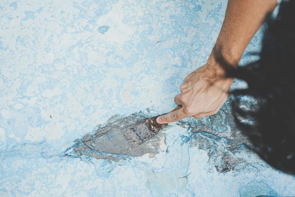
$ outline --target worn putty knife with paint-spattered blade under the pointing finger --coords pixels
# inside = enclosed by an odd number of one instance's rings
[[[182,107],[181,105],[178,105],[171,112],[176,111],[180,109],[181,107]],[[122,131],[123,136],[132,148],[147,141],[153,135],[158,133],[158,131],[160,131],[162,128],[168,125],[168,124],[158,124],[156,121],[156,118],[158,116],[148,118],[140,122],[137,122],[133,125],[124,127],[124,130]]]

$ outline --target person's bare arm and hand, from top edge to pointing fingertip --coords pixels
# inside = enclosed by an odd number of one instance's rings
[[[234,67],[238,66],[248,43],[276,5],[276,0],[229,0],[222,28],[207,63],[186,76],[180,86],[181,94],[174,98],[182,108],[159,116],[157,122],[163,124],[189,116],[202,118],[217,113],[234,80],[222,77],[225,70],[217,56],[222,56]]]

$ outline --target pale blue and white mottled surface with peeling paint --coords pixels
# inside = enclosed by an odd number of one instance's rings
[[[237,139],[228,103],[168,126],[153,154],[64,157],[115,114],[175,107],[183,78],[211,52],[226,4],[0,1],[0,196],[294,195],[294,176],[228,145]],[[260,49],[261,32],[247,51]]]

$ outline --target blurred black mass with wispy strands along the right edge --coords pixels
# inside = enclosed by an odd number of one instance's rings
[[[294,19],[295,1],[283,1],[277,17],[266,21],[260,60],[227,72],[248,83],[231,95],[235,119],[251,148],[289,174],[295,174]],[[250,109],[242,107],[244,95],[254,100]]]

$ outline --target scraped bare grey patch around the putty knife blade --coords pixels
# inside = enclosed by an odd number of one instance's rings
[[[138,129],[142,127],[142,119],[145,118],[147,117],[144,114],[135,113],[125,118],[119,118],[114,122],[107,122],[105,126],[98,126],[97,131],[93,134],[86,134],[82,139],[76,139],[76,144],[66,150],[65,155],[75,157],[89,156],[96,159],[115,161],[138,157],[147,153],[150,154],[150,157],[153,157],[154,154],[160,151],[160,143],[165,139],[162,132],[158,132],[157,135],[136,147],[130,146],[126,141],[128,136],[134,134],[133,129],[129,132],[130,128]],[[148,130],[148,128],[145,128],[145,121],[143,123],[143,129]],[[139,136],[147,135],[139,133]]]

